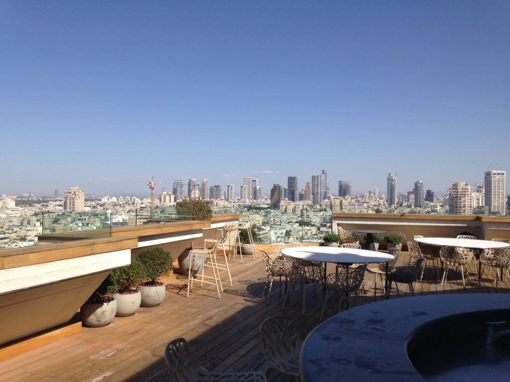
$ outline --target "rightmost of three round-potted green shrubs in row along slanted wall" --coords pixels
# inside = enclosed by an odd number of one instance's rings
[[[147,273],[147,281],[137,287],[142,295],[141,306],[157,307],[163,302],[166,293],[165,284],[159,278],[172,269],[170,253],[161,247],[149,248],[140,252],[137,260],[143,264]]]

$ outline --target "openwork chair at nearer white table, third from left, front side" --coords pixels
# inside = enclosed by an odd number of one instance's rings
[[[327,275],[326,283],[324,284],[324,288],[326,288],[326,296],[324,297],[324,305],[322,307],[322,312],[319,321],[322,322],[322,316],[324,315],[324,309],[326,308],[327,295],[329,294],[329,289],[332,289],[334,291],[333,306],[331,307],[331,313],[333,313],[335,309],[335,298],[337,296],[337,292],[345,293],[346,296],[348,297],[350,293],[360,289],[361,284],[363,283],[365,269],[367,269],[366,263],[358,265],[355,268],[349,267],[341,268],[337,273]],[[340,313],[340,307],[338,311]]]

